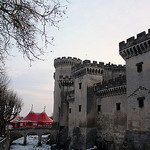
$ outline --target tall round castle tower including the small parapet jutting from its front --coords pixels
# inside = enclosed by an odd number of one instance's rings
[[[60,126],[67,126],[68,108],[65,92],[73,86],[71,67],[81,63],[80,59],[62,57],[54,60],[54,122]]]

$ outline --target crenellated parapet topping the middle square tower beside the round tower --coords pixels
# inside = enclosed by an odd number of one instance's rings
[[[85,74],[102,75],[104,73],[104,63],[84,60],[82,63],[73,66],[71,72],[74,78],[78,78]]]

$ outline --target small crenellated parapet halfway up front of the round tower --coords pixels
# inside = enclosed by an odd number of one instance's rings
[[[71,87],[74,85],[74,81],[68,76],[59,76],[59,86],[60,87]]]

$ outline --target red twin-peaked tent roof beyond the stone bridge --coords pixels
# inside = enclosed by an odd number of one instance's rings
[[[34,113],[33,111],[29,112],[29,114],[21,120],[21,122],[26,121],[36,121],[36,122],[53,122],[52,119],[50,119],[45,112],[42,113]]]

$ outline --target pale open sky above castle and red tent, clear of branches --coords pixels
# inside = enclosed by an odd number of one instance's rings
[[[11,87],[23,99],[21,115],[26,116],[33,104],[35,112],[53,112],[54,59],[77,57],[104,63],[125,64],[118,44],[150,28],[150,0],[69,0],[60,30],[49,28],[55,36],[52,51],[30,67],[17,50],[7,61]]]

